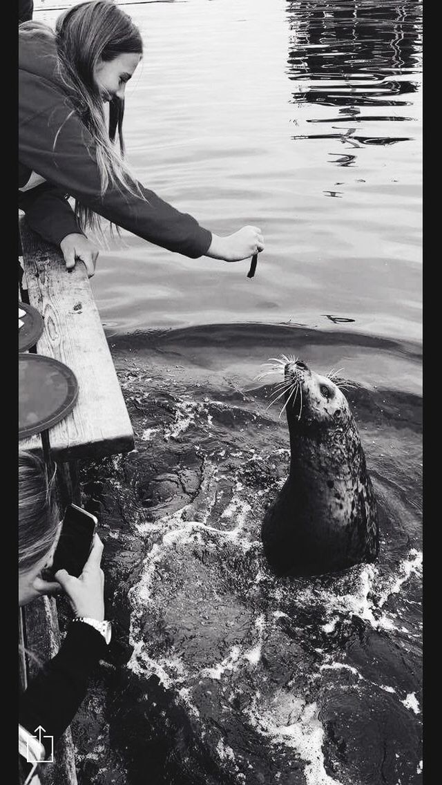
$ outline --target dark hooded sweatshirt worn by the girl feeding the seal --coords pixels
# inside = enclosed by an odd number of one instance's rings
[[[93,137],[60,78],[53,31],[39,22],[29,21],[19,27],[19,109],[19,188],[27,183],[32,171],[47,181],[23,194],[19,192],[19,206],[29,219],[28,210],[32,211],[34,205],[35,212],[35,200],[41,200],[33,228],[46,239],[60,244],[65,235],[79,232],[67,202],[63,212],[62,197],[68,194],[150,243],[191,258],[206,254],[211,233],[191,215],[175,210],[141,184],[144,198],[119,184],[109,184],[104,195],[100,194]],[[55,221],[50,219],[53,199],[58,205]]]

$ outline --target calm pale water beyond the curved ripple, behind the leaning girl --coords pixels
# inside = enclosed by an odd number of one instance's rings
[[[51,5],[63,4],[36,3],[35,19],[52,23]],[[217,234],[260,226],[266,248],[250,281],[246,262],[126,234],[93,281],[108,332],[333,329],[329,314],[419,340],[420,2],[124,5],[145,42],[126,90],[133,169]]]

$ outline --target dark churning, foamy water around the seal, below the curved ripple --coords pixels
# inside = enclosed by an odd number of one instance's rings
[[[275,579],[263,557],[289,441],[250,356],[259,345],[263,361],[287,347],[305,357],[313,341],[323,372],[331,356],[373,349],[343,332],[256,325],[111,341],[136,450],[83,467],[82,480],[122,652],[75,721],[80,782],[420,782],[418,394],[349,391],[378,498],[378,562]],[[415,345],[382,351],[420,364]]]

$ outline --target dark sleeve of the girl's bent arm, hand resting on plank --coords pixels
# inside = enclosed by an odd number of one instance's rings
[[[55,185],[42,183],[29,191],[19,191],[19,207],[27,223],[49,243],[60,245],[66,235],[83,234],[65,194]]]

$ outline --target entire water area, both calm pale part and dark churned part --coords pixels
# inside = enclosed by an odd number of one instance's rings
[[[75,721],[79,782],[417,785],[422,6],[126,10],[148,41],[126,100],[134,168],[215,232],[261,225],[266,250],[253,281],[129,235],[100,255],[136,451],[82,470],[122,651]],[[268,571],[259,531],[289,444],[255,377],[282,352],[356,385],[376,564]]]

